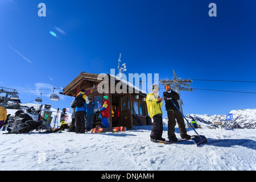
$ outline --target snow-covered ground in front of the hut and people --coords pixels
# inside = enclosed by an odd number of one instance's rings
[[[188,134],[194,135],[192,129]],[[0,131],[1,170],[256,170],[255,129],[196,129],[208,138],[176,144],[150,141],[151,126],[120,133],[8,134]],[[179,138],[179,129],[176,128]],[[163,137],[167,138],[164,127]]]

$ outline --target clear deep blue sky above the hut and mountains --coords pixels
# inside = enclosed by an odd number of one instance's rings
[[[46,17],[38,16],[42,2]],[[208,15],[212,2],[216,17]],[[43,104],[62,109],[72,98],[50,101],[51,88],[64,88],[82,71],[114,68],[117,74],[119,53],[126,74],[172,78],[175,69],[181,78],[256,81],[255,5],[249,0],[1,0],[0,86],[17,89],[23,103],[43,93]],[[256,92],[256,83],[193,81],[191,88]],[[181,91],[181,98],[184,114],[227,114],[256,103],[256,94],[198,89]]]

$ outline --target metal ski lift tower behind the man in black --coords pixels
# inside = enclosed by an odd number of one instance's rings
[[[172,69],[172,71],[174,71],[174,69]],[[184,90],[184,91],[192,91],[193,89],[190,88],[190,84],[192,83],[192,80],[189,79],[183,79],[183,78],[177,78],[177,75],[174,71],[174,78],[172,78],[172,80],[170,79],[163,79],[159,81],[160,84],[165,85],[165,84],[170,84],[171,89],[175,90],[179,96],[180,96],[180,90]],[[183,109],[182,109],[182,100],[180,97],[180,100],[178,100],[179,106],[180,106],[180,111],[181,113],[183,113]]]

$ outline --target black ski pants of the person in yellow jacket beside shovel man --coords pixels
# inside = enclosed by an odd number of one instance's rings
[[[152,127],[150,138],[152,139],[161,139],[163,134],[163,117],[162,115],[156,114],[152,117]]]

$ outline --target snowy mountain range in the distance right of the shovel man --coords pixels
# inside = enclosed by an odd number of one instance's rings
[[[225,129],[256,129],[256,109],[232,110],[233,121],[226,121],[226,115],[187,114],[185,117],[191,121],[193,117],[199,125],[213,126],[213,122],[222,122]]]

